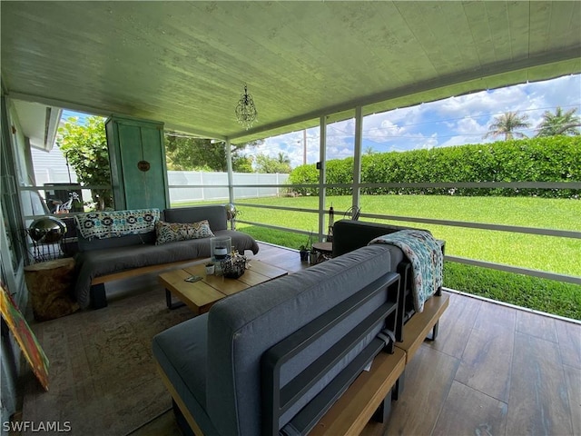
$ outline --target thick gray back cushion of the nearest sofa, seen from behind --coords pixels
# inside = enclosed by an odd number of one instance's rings
[[[231,435],[260,434],[262,354],[389,272],[389,264],[387,246],[363,247],[214,304],[208,316],[206,398],[217,430]],[[386,297],[364,310],[374,310]],[[357,322],[353,320],[360,316],[353,313],[354,318],[350,315],[347,322]],[[326,338],[329,343],[318,343],[307,355],[285,364],[282,378],[290,380],[336,340],[337,334],[331,333]]]

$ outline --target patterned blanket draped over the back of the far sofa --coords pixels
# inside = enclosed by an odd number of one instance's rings
[[[159,209],[80,213],[74,217],[77,229],[89,241],[153,232],[159,219]]]

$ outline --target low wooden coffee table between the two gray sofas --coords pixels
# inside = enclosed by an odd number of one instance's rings
[[[255,284],[268,282],[288,272],[262,261],[252,261],[251,267],[238,279],[226,279],[218,275],[206,275],[205,262],[188,266],[179,270],[163,272],[159,282],[165,287],[167,307],[175,309],[182,306],[172,304],[172,295],[186,304],[192,312],[199,315],[208,312],[214,302],[232,293],[243,291]],[[199,275],[199,282],[185,282],[191,275]]]

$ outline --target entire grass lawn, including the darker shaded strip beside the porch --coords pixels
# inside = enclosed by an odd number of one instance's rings
[[[260,198],[239,203],[281,205],[318,209],[316,197]],[[220,203],[220,202],[216,202]],[[222,202],[223,203],[223,202]],[[327,197],[326,208],[336,211],[350,207],[350,196]],[[530,197],[454,197],[424,195],[366,195],[361,198],[363,213],[412,216],[475,223],[498,223],[525,227],[581,231],[581,201]],[[240,219],[303,231],[318,230],[316,213],[264,210],[238,206]],[[336,219],[340,219],[340,213]],[[368,220],[375,221],[380,220]],[[389,221],[383,221],[389,223]],[[430,230],[446,240],[446,253],[493,263],[505,263],[540,271],[581,276],[581,240],[526,233],[484,231],[461,227],[393,221]],[[306,236],[239,223],[239,230],[255,239],[299,248]],[[298,255],[298,254],[297,254]],[[500,272],[475,266],[446,263],[444,285],[541,312],[581,320],[581,286]]]

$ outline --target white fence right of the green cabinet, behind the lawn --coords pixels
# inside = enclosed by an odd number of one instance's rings
[[[190,203],[204,200],[228,200],[228,174],[201,171],[168,171],[170,202]],[[244,187],[245,184],[285,184],[289,174],[232,173],[234,197],[274,197],[281,194],[278,187]]]

